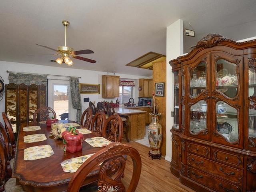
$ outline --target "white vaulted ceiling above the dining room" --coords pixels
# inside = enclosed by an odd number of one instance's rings
[[[125,65],[150,51],[166,55],[166,27],[178,19],[183,20],[184,28],[195,31],[196,42],[209,32],[227,33],[228,29],[256,20],[255,0],[0,2],[0,60],[140,76],[150,76],[152,70]],[[54,49],[64,46],[62,20],[70,22],[66,45],[74,50],[93,50],[94,54],[79,56],[96,63],[73,58],[73,66],[59,65],[50,62],[58,58],[47,55],[54,54],[52,50],[36,45]]]

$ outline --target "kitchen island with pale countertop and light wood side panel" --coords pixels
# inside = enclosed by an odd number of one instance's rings
[[[130,141],[136,141],[144,138],[146,135],[146,111],[134,110],[124,107],[114,108],[114,110],[115,113],[127,118],[130,126],[130,131],[127,133],[127,136]]]

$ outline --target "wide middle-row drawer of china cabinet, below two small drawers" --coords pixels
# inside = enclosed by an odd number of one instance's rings
[[[200,168],[206,172],[210,172],[212,174],[215,174],[216,176],[225,178],[226,180],[230,180],[237,184],[242,185],[243,183],[242,170],[226,166],[224,164],[220,164],[212,160],[196,156],[194,154],[188,154],[187,163],[189,166]]]

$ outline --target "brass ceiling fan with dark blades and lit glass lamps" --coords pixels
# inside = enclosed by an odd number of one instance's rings
[[[77,56],[77,55],[81,55],[81,54],[94,53],[92,50],[86,49],[86,50],[74,51],[73,48],[66,46],[66,28],[69,25],[69,22],[64,20],[64,21],[62,21],[62,24],[65,26],[65,46],[59,46],[57,48],[57,50],[55,50],[53,48],[50,48],[50,47],[47,47],[47,46],[44,46],[44,45],[38,45],[38,44],[36,44],[36,45],[47,48],[47,49],[50,49],[50,50],[53,50],[53,51],[56,51],[58,53],[56,55],[60,56],[58,59],[56,59],[56,62],[58,64],[62,64],[64,62],[64,63],[68,64],[68,66],[73,65],[74,63],[69,58],[69,56],[71,56],[75,59],[80,59],[80,60],[87,61],[87,62],[90,62],[90,63],[95,63],[96,62],[95,60]]]

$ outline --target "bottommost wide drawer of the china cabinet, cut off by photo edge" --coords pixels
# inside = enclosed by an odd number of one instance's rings
[[[214,189],[216,192],[242,192],[243,188],[239,185],[233,185],[221,179],[210,176],[200,170],[188,167],[188,178]],[[212,191],[212,190],[210,190]]]

